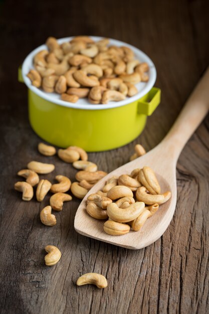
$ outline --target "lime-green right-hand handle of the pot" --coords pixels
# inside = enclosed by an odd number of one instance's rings
[[[161,90],[159,88],[152,87],[146,95],[139,99],[138,113],[151,115],[160,103],[160,94]]]

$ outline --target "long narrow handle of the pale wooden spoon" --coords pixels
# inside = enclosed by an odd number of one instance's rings
[[[209,67],[186,101],[161,144],[176,161],[197,126],[209,110]]]

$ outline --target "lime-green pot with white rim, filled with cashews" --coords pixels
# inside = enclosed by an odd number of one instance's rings
[[[87,151],[120,147],[144,129],[160,102],[156,69],[141,50],[89,36],[49,37],[25,59],[29,120],[43,139]]]

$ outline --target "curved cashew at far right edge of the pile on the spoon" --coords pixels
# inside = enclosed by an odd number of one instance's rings
[[[171,197],[171,193],[169,191],[163,193],[163,194],[157,194],[157,195],[152,195],[146,193],[146,188],[145,187],[140,187],[136,191],[136,199],[137,201],[144,202],[147,205],[153,205],[155,203],[157,204],[163,204],[169,200]]]

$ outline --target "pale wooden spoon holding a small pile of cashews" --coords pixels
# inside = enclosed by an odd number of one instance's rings
[[[209,68],[197,84],[184,105],[174,125],[165,138],[152,150],[134,161],[112,171],[100,180],[85,196],[75,217],[75,230],[85,236],[129,249],[143,248],[161,237],[167,229],[176,206],[176,163],[178,156],[189,137],[200,124],[209,109]],[[169,110],[169,107],[168,109]],[[151,167],[157,174],[161,191],[171,191],[171,199],[160,205],[159,210],[147,221],[140,231],[130,231],[121,236],[104,232],[105,221],[92,218],[86,212],[86,199],[89,194],[103,188],[108,178],[130,174],[135,168]]]

